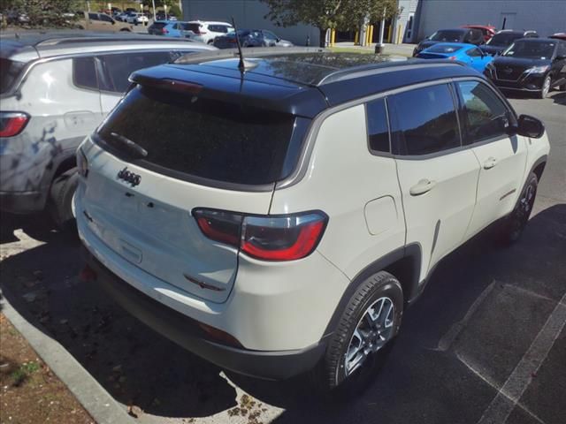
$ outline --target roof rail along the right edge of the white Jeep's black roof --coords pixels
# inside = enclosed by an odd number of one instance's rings
[[[336,70],[335,72],[329,73],[325,78],[321,79],[317,86],[324,86],[325,84],[330,84],[332,82],[341,81],[344,79],[352,79],[365,75],[375,75],[376,73],[394,72],[400,71],[407,68],[415,67],[435,67],[439,64],[443,66],[465,66],[465,64],[458,61],[448,62],[446,59],[412,59],[409,60],[399,60],[392,62],[379,62],[375,64],[363,64],[359,66],[352,66],[350,68],[343,68]]]

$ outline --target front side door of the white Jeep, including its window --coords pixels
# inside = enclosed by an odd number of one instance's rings
[[[464,143],[478,158],[476,208],[467,231],[471,237],[508,214],[523,188],[527,147],[524,137],[509,136],[514,115],[491,87],[479,80],[455,82],[462,104]]]

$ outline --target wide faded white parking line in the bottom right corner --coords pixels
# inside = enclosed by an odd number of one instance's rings
[[[562,296],[544,327],[498,391],[497,396],[487,406],[478,424],[503,424],[508,420],[510,413],[523,396],[524,390],[531,384],[532,375],[547,359],[548,352],[555,345],[556,337],[560,335],[565,324],[566,294]]]

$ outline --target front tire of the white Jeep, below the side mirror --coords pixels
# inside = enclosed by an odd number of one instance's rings
[[[503,244],[510,245],[521,238],[524,227],[529,221],[529,216],[531,216],[538,186],[539,178],[537,174],[531,172],[519,199],[516,201],[513,212],[501,224],[500,240]]]

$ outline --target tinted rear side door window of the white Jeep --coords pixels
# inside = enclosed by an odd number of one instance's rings
[[[454,101],[447,85],[417,88],[390,99],[402,154],[428,155],[460,146]]]

